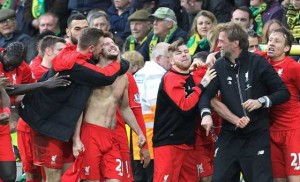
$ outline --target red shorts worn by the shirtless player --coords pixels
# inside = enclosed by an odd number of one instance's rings
[[[85,152],[81,179],[122,180],[122,158],[119,142],[113,130],[90,123],[81,126],[81,141]]]

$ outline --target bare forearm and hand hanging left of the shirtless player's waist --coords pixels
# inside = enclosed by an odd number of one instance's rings
[[[77,121],[74,135],[73,135],[73,155],[77,157],[80,151],[84,151],[84,145],[80,139],[80,131],[81,131],[81,124],[82,124],[82,113]]]

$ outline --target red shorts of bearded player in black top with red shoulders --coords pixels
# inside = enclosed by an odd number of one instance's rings
[[[187,145],[154,147],[154,182],[197,181],[196,161],[192,159],[193,148]]]

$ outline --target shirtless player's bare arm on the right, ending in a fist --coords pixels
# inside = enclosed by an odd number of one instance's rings
[[[145,145],[146,138],[145,138],[141,128],[139,127],[139,125],[136,121],[136,118],[129,106],[127,89],[128,89],[128,82],[126,81],[126,88],[123,91],[123,96],[119,103],[120,112],[121,112],[121,115],[122,115],[124,121],[126,122],[126,124],[128,124],[129,127],[138,135],[138,145],[141,148],[141,147],[143,147],[143,145]]]

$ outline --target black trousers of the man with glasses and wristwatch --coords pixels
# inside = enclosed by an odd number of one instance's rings
[[[213,182],[273,182],[270,133],[264,129],[250,136],[221,131],[216,143]]]

